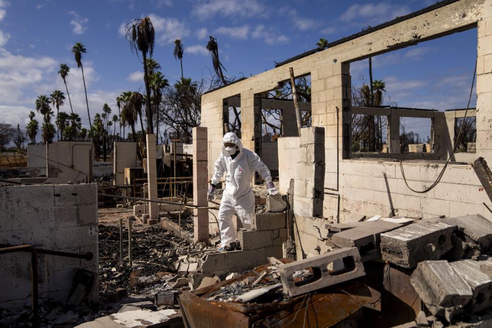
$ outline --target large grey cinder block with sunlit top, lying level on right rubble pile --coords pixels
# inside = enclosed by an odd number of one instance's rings
[[[403,268],[415,268],[424,260],[438,260],[453,248],[451,234],[455,228],[446,223],[422,220],[383,233],[382,259]]]

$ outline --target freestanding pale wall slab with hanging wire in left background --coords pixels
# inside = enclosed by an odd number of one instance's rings
[[[48,154],[46,183],[91,180],[92,142],[56,141],[47,144],[46,147]]]

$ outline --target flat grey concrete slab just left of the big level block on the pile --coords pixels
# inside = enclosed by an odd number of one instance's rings
[[[357,247],[362,261],[379,259],[380,234],[401,227],[400,223],[385,221],[360,222],[356,228],[344,230],[332,236],[338,247]]]

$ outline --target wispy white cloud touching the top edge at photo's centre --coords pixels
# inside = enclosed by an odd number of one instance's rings
[[[222,16],[251,17],[264,16],[267,9],[256,0],[206,0],[195,3],[192,13],[200,19],[217,14]]]

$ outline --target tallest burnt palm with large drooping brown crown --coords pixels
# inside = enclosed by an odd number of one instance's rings
[[[130,48],[135,52],[139,50],[142,53],[142,58],[144,59],[144,82],[147,92],[147,133],[151,134],[154,133],[154,126],[152,122],[152,112],[150,110],[151,103],[149,74],[147,71],[147,54],[149,54],[149,57],[152,57],[152,53],[154,52],[154,34],[154,26],[152,25],[152,21],[149,16],[145,18],[136,18],[126,26],[126,38],[130,43]]]

